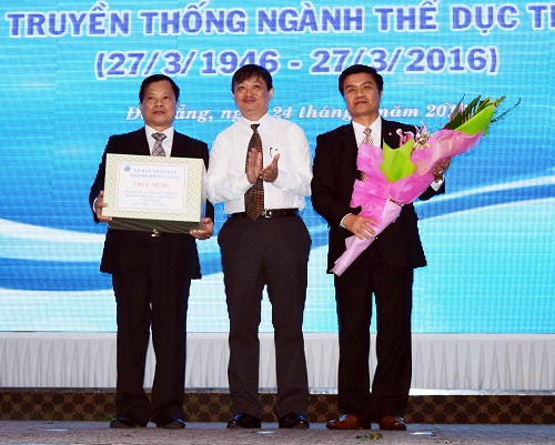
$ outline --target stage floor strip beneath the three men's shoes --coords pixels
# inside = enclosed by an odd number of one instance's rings
[[[224,423],[189,423],[185,429],[110,429],[107,422],[0,422],[0,444],[157,444],[157,445],[361,445],[384,444],[555,444],[553,425],[408,425],[407,432],[360,429],[332,432],[324,424],[310,431],[225,429]],[[376,436],[374,436],[376,434]],[[381,436],[380,436],[381,434]]]

